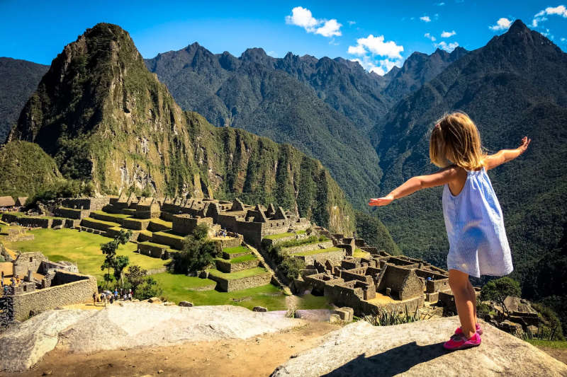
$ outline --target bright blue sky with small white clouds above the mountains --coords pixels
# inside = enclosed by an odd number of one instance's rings
[[[144,57],[198,42],[235,56],[262,47],[358,59],[383,74],[412,52],[474,50],[520,18],[567,47],[567,0],[544,1],[11,1],[0,0],[0,56],[50,64],[99,22],[127,30]]]

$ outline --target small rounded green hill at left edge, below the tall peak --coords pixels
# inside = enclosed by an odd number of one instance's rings
[[[33,197],[63,180],[57,164],[37,144],[11,141],[0,146],[0,195]]]

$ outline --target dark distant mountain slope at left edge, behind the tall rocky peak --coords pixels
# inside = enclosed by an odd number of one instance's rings
[[[0,144],[4,143],[18,115],[38,87],[49,66],[0,57]]]

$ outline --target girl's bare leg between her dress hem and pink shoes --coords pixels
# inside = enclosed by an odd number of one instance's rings
[[[468,289],[471,282],[468,281],[468,274],[456,269],[449,269],[449,286],[455,296],[456,311],[461,320],[463,335],[470,338],[476,332],[476,318],[474,315],[475,306]]]

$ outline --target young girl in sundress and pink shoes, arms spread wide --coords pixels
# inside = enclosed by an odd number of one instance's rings
[[[371,206],[385,206],[417,190],[444,185],[449,286],[461,320],[461,327],[444,343],[446,349],[481,344],[482,330],[476,323],[476,296],[468,275],[503,276],[512,272],[502,209],[486,170],[520,156],[530,141],[524,137],[517,149],[503,149],[488,156],[483,153],[481,137],[473,121],[464,112],[453,112],[435,124],[430,139],[431,161],[442,169],[431,175],[410,178],[386,197],[370,199]]]

